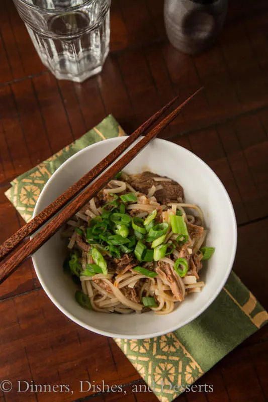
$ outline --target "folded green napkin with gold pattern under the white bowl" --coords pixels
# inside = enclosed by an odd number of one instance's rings
[[[52,173],[80,149],[125,135],[113,116],[62,151],[12,181],[7,197],[29,222]],[[268,314],[231,273],[215,302],[192,323],[173,333],[143,340],[115,339],[161,402],[170,402],[268,320]]]

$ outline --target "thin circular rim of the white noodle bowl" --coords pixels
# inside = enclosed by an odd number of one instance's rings
[[[70,156],[66,161],[64,161],[56,170],[54,173],[52,173],[52,175],[50,176],[50,178],[48,179],[48,181],[46,182],[46,184],[44,185],[37,203],[35,205],[34,208],[34,212],[33,212],[33,218],[37,215],[37,211],[39,208],[39,204],[41,202],[41,199],[44,195],[44,193],[47,191],[47,189],[50,186],[50,183],[52,182],[52,180],[55,178],[55,175],[62,169],[65,168],[65,166],[72,160],[75,159],[76,157],[78,157],[79,155],[81,155],[83,152],[87,152],[88,148],[95,148],[100,146],[100,144],[102,144],[103,142],[109,141],[111,143],[113,142],[117,142],[118,138],[120,138],[120,140],[124,140],[125,138],[127,138],[128,136],[122,136],[122,137],[114,137],[114,138],[109,138],[105,141],[99,141],[95,144],[91,144],[88,145],[87,147],[81,149],[80,151],[77,151],[74,155]],[[144,335],[129,335],[129,334],[115,334],[112,332],[108,332],[108,331],[104,331],[104,330],[100,330],[98,328],[95,328],[91,325],[85,324],[83,321],[81,321],[80,319],[77,319],[73,314],[69,313],[65,308],[63,308],[60,303],[57,302],[57,300],[54,298],[53,294],[51,294],[51,292],[48,290],[46,284],[43,281],[42,275],[38,269],[38,264],[36,261],[36,257],[35,255],[32,256],[32,261],[33,261],[33,265],[34,265],[34,269],[36,272],[36,275],[38,277],[38,280],[41,283],[42,288],[44,289],[45,293],[48,295],[48,297],[50,298],[50,300],[52,301],[52,303],[66,316],[68,317],[70,320],[72,320],[73,322],[75,322],[76,324],[80,325],[81,327],[90,330],[92,332],[95,332],[99,335],[104,335],[110,338],[120,338],[120,339],[146,339],[146,338],[154,338],[154,337],[158,337],[161,335],[165,335],[167,333],[171,333],[174,332],[176,330],[178,330],[181,327],[184,327],[185,325],[189,324],[190,322],[194,321],[197,317],[199,317],[202,313],[204,313],[204,311],[207,310],[207,308],[214,302],[214,300],[216,299],[216,297],[219,295],[219,293],[222,291],[229,275],[230,272],[232,270],[233,267],[233,263],[234,263],[234,259],[235,259],[235,255],[236,255],[236,248],[237,248],[237,224],[236,224],[236,218],[235,218],[235,213],[234,213],[234,209],[233,209],[233,205],[231,202],[231,198],[226,190],[226,188],[224,187],[222,181],[220,180],[220,178],[217,176],[217,174],[212,170],[212,168],[206,163],[204,162],[201,158],[199,158],[199,156],[195,155],[192,151],[189,151],[188,149],[182,147],[181,145],[175,144],[173,142],[170,142],[168,140],[164,140],[161,138],[155,138],[153,141],[156,142],[160,142],[160,143],[164,143],[167,144],[168,146],[172,146],[178,149],[183,150],[183,152],[188,153],[189,155],[191,155],[191,157],[197,159],[201,164],[203,164],[205,167],[207,167],[210,172],[212,173],[212,175],[214,175],[214,177],[216,178],[216,180],[218,181],[219,185],[221,186],[222,190],[223,190],[223,194],[225,195],[227,202],[229,203],[229,210],[230,210],[230,214],[231,214],[231,218],[232,218],[232,231],[233,231],[233,235],[234,235],[234,239],[233,239],[233,244],[232,244],[232,250],[230,252],[230,263],[228,266],[228,269],[226,269],[225,271],[225,275],[223,276],[222,280],[221,280],[221,285],[218,287],[217,291],[215,291],[215,293],[213,293],[207,303],[201,308],[199,309],[195,314],[193,314],[189,319],[184,320],[183,322],[178,323],[178,325],[172,326],[170,327],[168,330],[164,330],[164,331],[157,331],[154,333],[149,333],[149,334],[144,334]]]

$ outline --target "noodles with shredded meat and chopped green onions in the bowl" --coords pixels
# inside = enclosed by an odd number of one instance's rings
[[[118,176],[67,223],[64,268],[85,308],[169,314],[205,285],[199,273],[214,249],[202,247],[203,212],[167,177]]]

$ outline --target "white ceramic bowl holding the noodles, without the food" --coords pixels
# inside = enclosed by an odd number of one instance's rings
[[[113,138],[91,145],[63,163],[41,192],[34,216],[124,139]],[[187,296],[171,314],[164,316],[157,316],[153,312],[117,315],[88,311],[76,303],[76,287],[63,272],[66,245],[60,233],[55,234],[33,256],[38,279],[58,309],[82,327],[110,337],[150,338],[190,323],[219,294],[235,257],[237,230],[233,207],[223,184],[206,163],[178,145],[155,139],[124,170],[138,173],[145,169],[176,180],[184,187],[187,202],[199,205],[204,212],[206,226],[209,228],[207,244],[216,250],[201,271],[201,278],[206,282],[202,292]]]

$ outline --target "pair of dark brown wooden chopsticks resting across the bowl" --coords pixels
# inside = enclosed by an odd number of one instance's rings
[[[168,104],[156,112],[151,118],[143,123],[134,133],[132,133],[122,144],[114,149],[106,158],[97,164],[91,171],[86,173],[80,180],[69,187],[53,203],[45,208],[28,224],[19,229],[14,235],[7,239],[0,246],[0,261],[13,252],[23,240],[34,234],[51,218],[31,240],[27,241],[22,247],[13,253],[6,261],[0,265],[0,283],[17,268],[26,258],[35,253],[58,229],[66,223],[77,211],[79,211],[92,197],[94,197],[102,187],[115,175],[121,171],[157,134],[159,134],[190,102],[190,100],[201,90],[198,89],[185,102],[178,106],[173,112],[166,116],[148,134],[133,146],[118,161],[116,159],[133,144],[138,137],[149,129],[160,118],[167,109],[174,104],[178,96],[175,96]],[[115,162],[116,161],[116,162]],[[114,163],[115,162],[115,163]],[[114,164],[113,164],[114,163]],[[102,174],[112,165],[103,175],[101,175],[90,187],[87,187],[93,180]],[[85,187],[87,187],[85,189]],[[84,191],[82,191],[84,190]],[[82,192],[81,192],[82,191]],[[76,195],[79,194],[77,197]],[[74,198],[76,197],[76,198]],[[74,198],[74,199],[73,199]],[[70,202],[71,201],[71,202]],[[70,203],[69,203],[70,202]],[[67,206],[66,204],[69,203]],[[65,208],[63,208],[65,207]],[[55,216],[59,211],[61,212]]]

